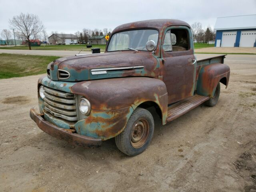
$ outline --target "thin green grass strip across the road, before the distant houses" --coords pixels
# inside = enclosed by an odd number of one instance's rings
[[[100,48],[100,50],[105,50],[106,45],[92,45],[92,48]],[[88,50],[92,48],[86,48],[86,45],[41,45],[31,47],[32,50],[67,50],[67,51],[80,51]],[[0,49],[18,49],[18,50],[29,50],[28,46],[13,46],[13,47],[4,47],[0,46]]]

